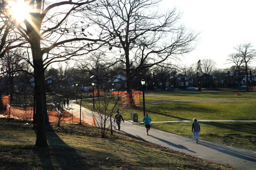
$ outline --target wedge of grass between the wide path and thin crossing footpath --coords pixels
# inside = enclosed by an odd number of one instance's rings
[[[256,151],[256,123],[254,122],[199,122],[199,140]],[[152,128],[193,138],[192,122],[152,123]],[[144,125],[141,125],[144,126]]]

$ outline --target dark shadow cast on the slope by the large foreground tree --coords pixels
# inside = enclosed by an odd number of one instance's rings
[[[43,169],[89,169],[84,157],[76,149],[68,146],[52,129],[46,126],[49,147],[35,147]]]

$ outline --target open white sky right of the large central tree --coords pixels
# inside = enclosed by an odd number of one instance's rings
[[[184,56],[182,63],[191,64],[211,58],[218,68],[226,68],[233,47],[252,43],[256,48],[256,1],[252,0],[163,0],[159,8],[183,12],[181,22],[187,28],[201,32],[194,51]],[[254,66],[256,66],[254,62]]]

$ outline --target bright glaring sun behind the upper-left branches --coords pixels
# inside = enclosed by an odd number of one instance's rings
[[[8,1],[8,5],[10,6],[9,15],[11,15],[18,23],[23,22],[25,19],[30,19],[29,12],[31,12],[32,9],[27,2],[24,2],[24,0]]]

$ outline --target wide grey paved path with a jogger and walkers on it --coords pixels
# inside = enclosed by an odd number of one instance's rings
[[[73,111],[73,115],[79,117],[80,106],[74,102],[75,101],[70,101],[69,109],[70,112]],[[92,115],[92,112],[89,109],[82,107],[82,111],[84,116]],[[255,169],[256,167],[256,152],[201,141],[200,134],[198,143],[195,143],[195,140],[192,138],[162,132],[155,129],[150,129],[149,136],[147,136],[145,127],[133,125],[131,123],[131,121],[125,121],[125,123],[122,122],[121,132],[176,151],[184,152],[187,155],[200,157],[201,159],[217,164],[229,165],[235,169],[250,170]]]

